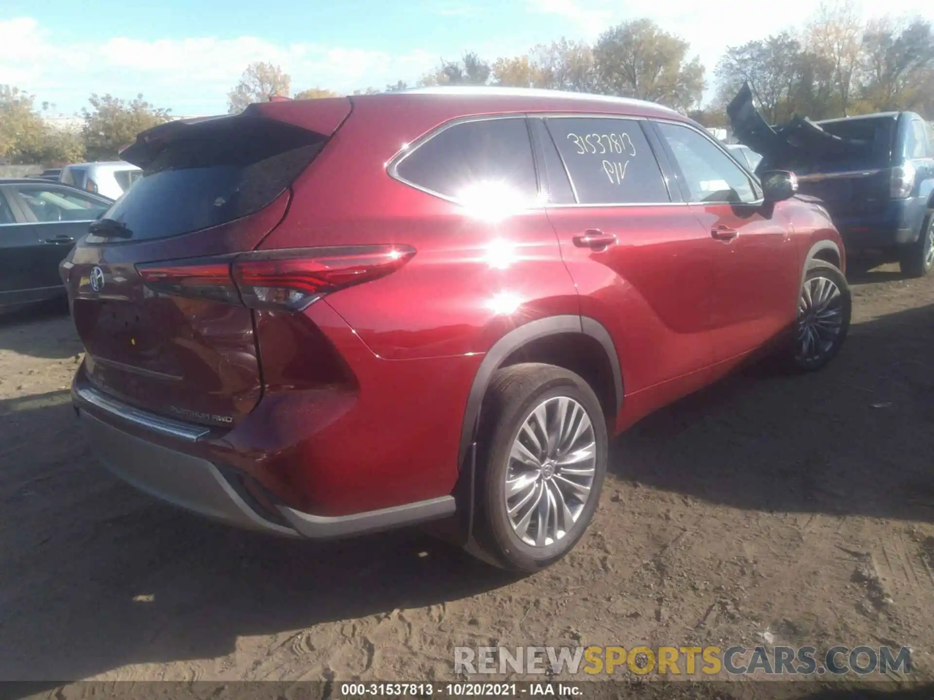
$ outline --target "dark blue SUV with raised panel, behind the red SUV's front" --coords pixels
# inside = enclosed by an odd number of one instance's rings
[[[743,88],[728,108],[734,132],[763,156],[760,170],[798,176],[819,197],[852,257],[881,253],[902,273],[934,267],[934,129],[913,112],[796,118],[772,128]]]

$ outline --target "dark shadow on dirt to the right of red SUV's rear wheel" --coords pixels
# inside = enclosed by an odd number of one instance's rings
[[[646,418],[618,476],[713,503],[934,522],[934,305],[853,326],[825,370],[747,372]]]

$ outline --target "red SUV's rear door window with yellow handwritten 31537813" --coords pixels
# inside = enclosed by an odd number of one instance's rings
[[[642,127],[635,119],[548,119],[582,204],[671,202]]]

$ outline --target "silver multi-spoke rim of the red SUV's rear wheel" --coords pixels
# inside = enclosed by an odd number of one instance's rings
[[[545,547],[567,535],[587,505],[596,467],[584,407],[568,397],[539,403],[522,422],[506,468],[506,512],[517,537]]]

